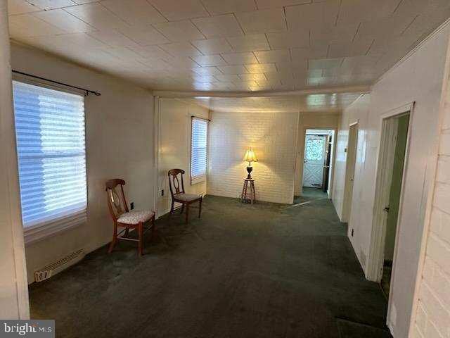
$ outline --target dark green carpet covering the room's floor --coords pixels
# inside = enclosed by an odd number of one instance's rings
[[[328,199],[203,205],[189,225],[184,215],[158,220],[142,258],[120,242],[33,284],[32,318],[56,319],[65,338],[339,338],[338,318],[385,329],[385,297],[364,279]]]

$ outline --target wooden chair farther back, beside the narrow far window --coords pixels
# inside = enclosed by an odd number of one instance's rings
[[[202,213],[202,196],[196,194],[186,194],[184,192],[184,181],[183,175],[184,170],[182,169],[171,169],[169,170],[169,188],[170,194],[172,195],[172,207],[170,208],[170,213],[174,213],[175,202],[181,203],[181,213],[183,213],[184,207],[186,206],[186,224],[189,223],[189,206],[191,204],[198,202],[198,218]],[[179,175],[181,176],[181,186]]]

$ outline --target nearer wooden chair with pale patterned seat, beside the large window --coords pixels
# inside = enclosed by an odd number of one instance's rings
[[[108,208],[110,209],[111,217],[114,221],[113,241],[110,244],[108,253],[113,251],[118,239],[138,242],[139,256],[142,256],[143,250],[143,224],[151,220],[151,225],[146,229],[152,230],[152,237],[155,234],[155,213],[153,211],[129,211],[127,200],[124,194],[125,181],[115,178],[106,182],[106,194],[108,195]],[[117,186],[120,186],[120,194],[117,194]],[[124,229],[117,233],[117,227],[124,227]],[[138,232],[138,239],[128,237],[130,229],[136,229]],[[123,236],[120,234],[124,233]]]

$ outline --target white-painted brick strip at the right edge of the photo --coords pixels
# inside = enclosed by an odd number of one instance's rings
[[[449,78],[450,82],[450,78]],[[450,83],[413,337],[450,337]]]

